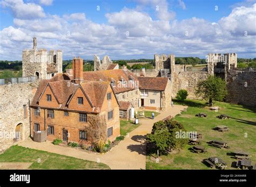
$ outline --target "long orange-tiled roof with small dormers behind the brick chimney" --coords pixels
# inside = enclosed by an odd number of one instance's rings
[[[136,88],[137,77],[134,77],[134,84],[129,82],[129,77],[133,76],[128,69],[112,69],[112,70],[99,70],[99,71],[85,71],[85,81],[116,81],[116,86],[113,87],[114,93],[125,92],[134,90]],[[122,84],[120,80],[124,78],[126,84]]]

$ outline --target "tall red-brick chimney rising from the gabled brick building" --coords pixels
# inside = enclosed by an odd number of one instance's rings
[[[79,56],[73,59],[73,79],[75,80],[76,84],[79,84],[84,80],[83,76],[83,59]]]

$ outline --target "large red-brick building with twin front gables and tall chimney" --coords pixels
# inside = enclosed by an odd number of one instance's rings
[[[73,77],[42,80],[30,104],[31,134],[47,131],[48,140],[91,143],[120,135],[119,103],[110,82],[85,81],[83,59],[73,59]]]

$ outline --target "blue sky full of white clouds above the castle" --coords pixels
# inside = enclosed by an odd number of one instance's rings
[[[63,59],[237,53],[256,57],[256,0],[2,0],[0,60],[60,49]]]

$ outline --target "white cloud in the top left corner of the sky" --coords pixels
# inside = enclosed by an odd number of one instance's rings
[[[9,7],[15,18],[35,19],[45,17],[42,6],[34,3],[24,3],[23,0],[3,0],[3,7]]]

